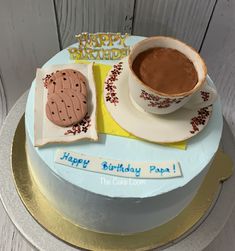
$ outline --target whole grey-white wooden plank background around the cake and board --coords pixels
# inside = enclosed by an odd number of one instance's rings
[[[169,35],[199,50],[235,135],[234,0],[8,0],[0,2],[0,126],[37,67],[81,32]],[[235,212],[209,250],[234,250]],[[32,250],[0,204],[0,250]]]

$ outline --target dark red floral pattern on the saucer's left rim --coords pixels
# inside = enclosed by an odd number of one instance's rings
[[[118,64],[113,66],[113,69],[111,70],[111,73],[107,80],[105,81],[105,90],[107,90],[105,100],[106,102],[110,102],[111,104],[114,104],[115,106],[117,103],[119,103],[119,99],[117,97],[116,93],[116,85],[114,84],[116,80],[118,80],[118,75],[121,74],[123,67],[123,62],[119,62]]]

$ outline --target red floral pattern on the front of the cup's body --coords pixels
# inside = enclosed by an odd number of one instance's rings
[[[154,94],[150,94],[146,92],[145,90],[141,90],[140,98],[143,98],[144,100],[148,100],[148,106],[151,107],[157,107],[157,108],[167,108],[170,107],[172,104],[178,104],[180,103],[183,98],[160,98],[158,96],[155,96]]]

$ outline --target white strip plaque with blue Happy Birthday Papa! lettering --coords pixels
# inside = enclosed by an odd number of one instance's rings
[[[177,161],[133,162],[113,160],[57,150],[55,162],[86,171],[127,178],[163,179],[182,176]]]

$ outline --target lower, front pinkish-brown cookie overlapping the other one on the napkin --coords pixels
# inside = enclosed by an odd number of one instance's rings
[[[47,99],[47,118],[58,126],[70,126],[81,121],[87,113],[86,97],[72,89],[60,89]]]

